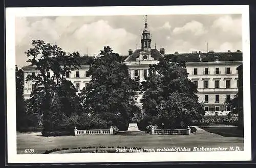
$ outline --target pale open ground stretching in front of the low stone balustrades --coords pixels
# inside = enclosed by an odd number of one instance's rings
[[[224,137],[204,130],[190,135],[78,135],[43,137],[40,132],[17,133],[17,153],[25,154],[25,149],[34,149],[35,153],[44,153],[54,148],[81,147],[230,147],[239,146],[243,150],[242,137]]]

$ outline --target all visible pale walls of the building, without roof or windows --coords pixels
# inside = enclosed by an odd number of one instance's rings
[[[132,79],[135,79],[134,72],[135,69],[138,70],[139,82],[144,81],[144,69],[148,69],[150,64],[155,64],[158,61],[127,61],[126,65],[129,67],[129,73]],[[230,94],[230,99],[238,92],[238,73],[237,67],[241,65],[241,61],[229,61],[229,62],[190,62],[186,63],[188,79],[191,81],[198,82],[198,97],[199,102],[203,103],[203,106],[208,107],[205,115],[216,115],[216,110],[212,111],[211,109],[219,107],[218,115],[226,115],[227,107],[224,104],[226,101],[226,95]],[[218,67],[220,74],[215,73],[215,68]],[[230,74],[226,74],[226,68],[230,68]],[[194,75],[194,68],[197,68],[198,74]],[[204,68],[208,68],[209,74],[204,75]],[[76,72],[72,71],[70,78],[68,78],[74,86],[79,83],[79,89],[86,87],[91,80],[91,77],[86,77],[86,71],[89,70],[89,65],[82,65],[82,68],[79,69],[79,77],[76,77]],[[24,77],[26,79],[27,75],[32,75],[32,72],[35,71],[33,68],[24,68]],[[52,75],[52,72],[51,72]],[[147,70],[148,76],[148,70]],[[204,88],[204,81],[208,81],[208,88]],[[219,88],[215,87],[215,81],[219,80]],[[226,87],[226,80],[230,80],[230,88]],[[25,99],[30,98],[30,93],[32,91],[33,82],[25,83],[24,85],[24,95]],[[219,102],[216,102],[216,94],[219,95]],[[208,102],[205,102],[205,95],[208,95]],[[137,105],[142,109],[142,103],[140,100],[142,95],[138,94],[138,97],[135,99]]]

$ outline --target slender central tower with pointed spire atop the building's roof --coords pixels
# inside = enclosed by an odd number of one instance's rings
[[[141,38],[141,50],[151,51],[151,34],[150,31],[147,30],[146,16],[147,15],[145,15],[145,26]]]

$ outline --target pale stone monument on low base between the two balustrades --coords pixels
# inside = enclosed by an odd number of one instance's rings
[[[140,131],[137,123],[130,123],[126,131],[115,132],[114,135],[149,135],[150,132]]]

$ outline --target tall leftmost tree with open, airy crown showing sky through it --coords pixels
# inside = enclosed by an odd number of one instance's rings
[[[45,43],[42,40],[33,40],[32,48],[27,54],[28,61],[35,66],[37,74],[35,76],[28,75],[26,81],[35,82],[35,90],[31,93],[31,99],[40,95],[40,111],[43,114],[44,131],[53,130],[52,114],[53,110],[57,110],[56,103],[58,88],[67,84],[66,73],[79,69],[80,54],[78,52],[66,53],[57,45]],[[47,73],[51,72],[51,76]],[[56,99],[56,101],[55,101]],[[38,99],[35,99],[38,101]],[[58,110],[57,110],[58,111]]]

